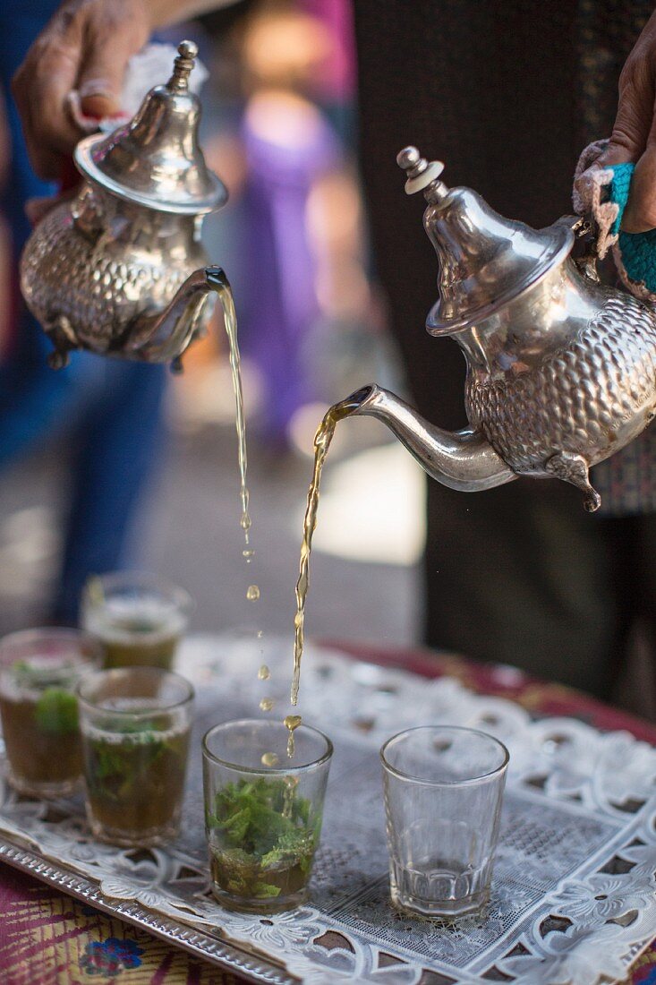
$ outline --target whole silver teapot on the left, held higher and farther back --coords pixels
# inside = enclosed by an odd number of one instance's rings
[[[78,144],[80,191],[26,244],[23,296],[54,345],[55,368],[86,349],[179,369],[204,330],[210,294],[231,303],[201,243],[204,216],[228,192],[198,144],[200,102],[188,87],[197,47],[182,41],[178,52],[168,82],[129,123]]]

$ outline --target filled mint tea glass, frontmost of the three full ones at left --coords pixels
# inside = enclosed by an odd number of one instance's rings
[[[78,688],[94,835],[112,844],[164,844],[179,829],[194,690],[158,667],[98,671]]]

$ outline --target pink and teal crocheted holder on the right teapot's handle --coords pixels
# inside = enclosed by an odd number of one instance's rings
[[[597,224],[597,252],[613,252],[623,285],[635,297],[656,304],[656,230],[623,232],[622,217],[634,164],[597,164],[607,140],[583,151],[574,174],[572,201],[577,215],[592,214]]]

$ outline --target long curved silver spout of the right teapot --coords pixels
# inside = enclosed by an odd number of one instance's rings
[[[427,474],[449,489],[477,493],[517,478],[481,433],[471,428],[446,431],[434,427],[405,401],[375,383],[362,387],[340,406],[348,407],[349,416],[382,421]]]

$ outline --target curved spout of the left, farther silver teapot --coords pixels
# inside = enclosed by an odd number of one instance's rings
[[[230,298],[230,283],[221,267],[201,267],[182,284],[157,315],[142,315],[129,328],[125,349],[134,359],[147,362],[174,361],[185,351],[202,327],[207,296],[217,292],[224,305]]]

